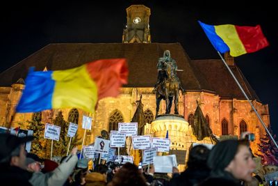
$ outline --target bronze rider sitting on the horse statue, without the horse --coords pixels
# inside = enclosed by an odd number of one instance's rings
[[[177,62],[171,58],[171,54],[169,50],[165,50],[163,53],[163,57],[158,59],[157,63],[157,70],[158,70],[158,77],[157,77],[157,82],[154,85],[154,90],[152,91],[153,93],[156,93],[158,86],[167,78],[166,72],[165,72],[165,63],[170,63],[171,68],[174,72],[174,78],[179,81],[179,77],[177,77]],[[181,93],[184,95],[186,91],[182,88],[181,82],[179,81],[179,89],[181,90]]]

